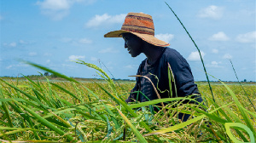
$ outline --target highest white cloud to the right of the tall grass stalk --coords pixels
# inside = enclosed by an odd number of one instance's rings
[[[218,20],[223,16],[224,8],[215,5],[208,6],[205,9],[199,11],[198,16],[201,18],[211,18]]]

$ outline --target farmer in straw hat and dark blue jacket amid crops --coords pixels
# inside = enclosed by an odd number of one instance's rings
[[[175,49],[166,48],[170,45],[169,43],[154,37],[154,22],[150,15],[129,13],[125,17],[121,30],[110,31],[104,37],[123,37],[125,49],[128,50],[131,57],[137,57],[142,53],[147,56],[137,70],[137,75],[143,77],[136,78],[137,83],[131,90],[128,99],[125,100],[127,103],[137,99],[141,102],[158,99],[154,87],[157,88],[160,98],[171,98],[171,93],[168,92],[170,86],[172,86],[172,97],[176,97],[176,94],[178,97],[197,94],[197,101],[202,101],[188,62]],[[175,79],[170,86],[168,64],[171,66]],[[134,91],[141,91],[143,94],[139,94],[137,97],[137,93],[133,93]],[[179,115],[180,117],[182,116]],[[184,117],[183,121],[188,117]]]

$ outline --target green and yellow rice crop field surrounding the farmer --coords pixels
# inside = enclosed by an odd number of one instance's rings
[[[53,72],[43,66],[30,63]],[[204,104],[170,98],[126,104],[134,83],[82,83],[53,72],[66,82],[0,78],[0,140],[32,142],[253,142],[256,85],[198,83]],[[160,112],[151,110],[160,102]],[[179,112],[191,114],[188,121]]]

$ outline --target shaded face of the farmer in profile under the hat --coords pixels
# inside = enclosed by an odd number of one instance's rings
[[[143,49],[143,40],[131,33],[122,34],[125,40],[125,49],[128,50],[131,57],[137,57],[142,53]]]

